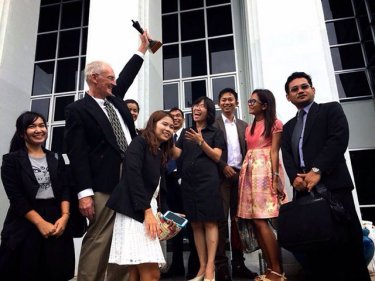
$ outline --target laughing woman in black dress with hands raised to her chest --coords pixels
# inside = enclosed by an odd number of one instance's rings
[[[182,157],[182,201],[194,233],[200,268],[193,281],[215,280],[218,221],[224,219],[217,162],[225,148],[223,132],[213,126],[215,104],[200,97],[192,105],[193,126],[173,150]]]

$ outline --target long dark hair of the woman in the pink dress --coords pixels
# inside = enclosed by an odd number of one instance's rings
[[[255,89],[251,94],[257,94],[259,101],[262,104],[267,104],[266,109],[264,110],[264,131],[262,135],[265,138],[271,136],[271,131],[273,124],[276,120],[276,101],[275,97],[270,90],[267,89]],[[250,134],[254,134],[254,129],[256,126],[256,120],[254,119],[253,124],[251,125]]]

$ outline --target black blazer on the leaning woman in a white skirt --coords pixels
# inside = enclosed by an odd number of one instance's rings
[[[166,211],[166,187],[161,167],[161,151],[152,154],[142,136],[133,139],[125,152],[123,176],[113,190],[107,206],[139,222],[144,221],[144,210],[150,208],[152,196],[160,182],[162,212]]]

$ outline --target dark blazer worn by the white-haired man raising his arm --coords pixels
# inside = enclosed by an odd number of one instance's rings
[[[136,136],[133,118],[123,98],[133,83],[143,59],[134,55],[121,71],[108,100],[118,109],[131,137]],[[110,194],[120,178],[124,153],[117,145],[111,124],[89,95],[66,107],[64,150],[68,154],[76,192],[92,188]]]

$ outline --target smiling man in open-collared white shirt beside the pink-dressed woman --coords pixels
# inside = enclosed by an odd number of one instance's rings
[[[235,90],[231,88],[221,90],[218,103],[222,114],[216,118],[214,126],[223,131],[227,151],[222,153],[219,161],[219,169],[222,172],[220,189],[226,219],[219,223],[219,243],[215,258],[216,280],[232,280],[228,257],[225,253],[229,214],[231,219],[232,276],[233,278],[253,279],[257,274],[246,268],[244,264],[242,245],[234,220],[238,206],[238,176],[246,155],[245,129],[247,123],[235,117],[238,106],[238,94]]]

